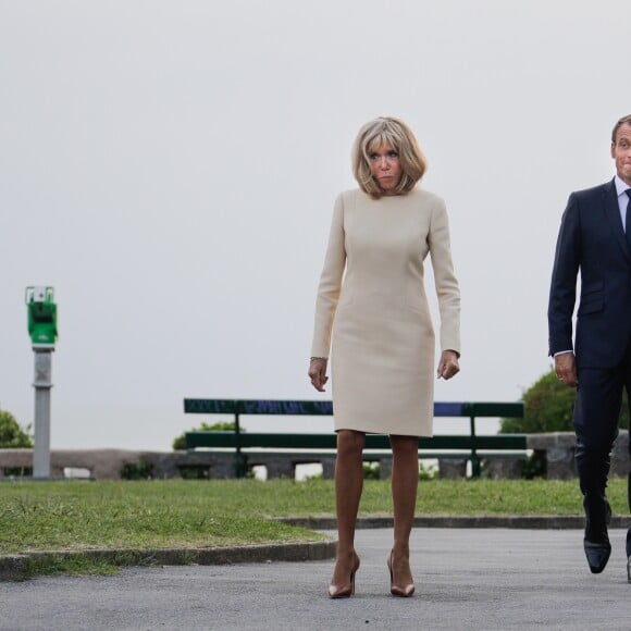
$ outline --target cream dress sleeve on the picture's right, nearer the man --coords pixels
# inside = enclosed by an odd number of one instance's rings
[[[432,213],[429,244],[441,312],[441,350],[460,354],[460,288],[454,274],[449,220],[442,200]]]

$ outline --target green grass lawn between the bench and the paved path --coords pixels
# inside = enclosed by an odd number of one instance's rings
[[[626,480],[609,484],[627,514]],[[580,515],[577,481],[447,481],[419,484],[418,515]],[[388,515],[388,481],[367,480],[360,515]],[[332,481],[215,480],[0,484],[0,554],[144,549],[318,541],[275,517],[334,514]]]

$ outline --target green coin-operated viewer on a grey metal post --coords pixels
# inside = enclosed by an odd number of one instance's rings
[[[50,391],[57,342],[57,305],[52,287],[26,287],[28,334],[35,355],[35,441],[33,477],[50,479]]]

